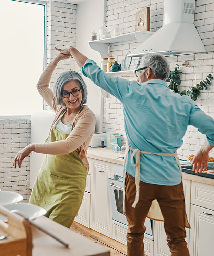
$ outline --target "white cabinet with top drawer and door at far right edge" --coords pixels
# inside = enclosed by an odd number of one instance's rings
[[[190,226],[190,255],[213,256],[214,186],[192,181]]]

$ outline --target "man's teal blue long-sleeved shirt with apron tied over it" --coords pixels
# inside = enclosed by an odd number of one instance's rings
[[[175,153],[180,148],[188,125],[206,134],[214,145],[214,120],[206,115],[189,96],[168,88],[165,81],[151,79],[145,83],[106,74],[93,60],[86,60],[82,72],[96,85],[118,98],[123,107],[129,146],[152,153]],[[135,177],[131,153],[126,172]],[[133,159],[136,162],[136,155]],[[158,185],[177,185],[181,172],[175,157],[140,155],[140,180]]]

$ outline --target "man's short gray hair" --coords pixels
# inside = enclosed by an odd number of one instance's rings
[[[169,76],[169,64],[160,54],[147,54],[141,60],[140,67],[150,67],[156,78],[166,80]]]

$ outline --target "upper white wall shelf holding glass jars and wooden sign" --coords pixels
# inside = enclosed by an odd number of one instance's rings
[[[126,42],[126,41],[132,41],[132,40],[136,40],[136,39],[139,40],[140,42],[144,42],[152,34],[154,34],[154,32],[135,31],[135,32],[127,33],[127,34],[110,37],[110,38],[88,41],[85,43],[88,43],[89,46],[93,50],[98,51],[101,55],[101,58],[107,58],[108,57],[108,45],[110,43]]]

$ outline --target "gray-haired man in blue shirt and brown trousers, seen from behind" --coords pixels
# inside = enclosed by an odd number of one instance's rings
[[[214,120],[189,96],[168,88],[165,79],[169,66],[161,55],[146,55],[135,71],[137,81],[129,81],[106,74],[73,47],[57,50],[70,54],[85,76],[122,103],[129,146],[125,163],[127,255],[144,255],[144,221],[148,215],[164,221],[171,255],[189,256],[185,226],[190,226],[176,150],[188,125],[206,134],[207,140],[193,159],[193,171],[201,173],[214,147]]]

